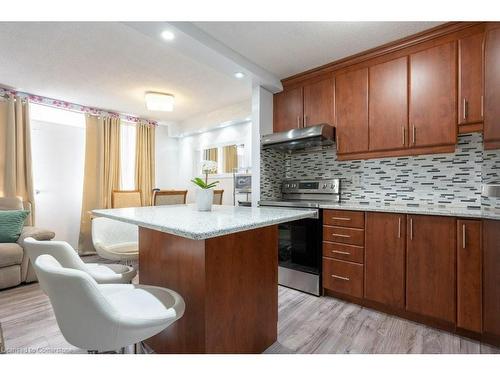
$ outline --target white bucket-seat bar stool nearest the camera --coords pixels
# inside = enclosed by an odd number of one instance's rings
[[[89,353],[123,353],[184,315],[183,298],[170,289],[98,284],[88,273],[63,267],[48,254],[40,255],[34,268],[62,335]]]

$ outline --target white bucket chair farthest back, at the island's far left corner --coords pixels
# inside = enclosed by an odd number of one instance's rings
[[[139,258],[139,228],[105,217],[92,219],[92,242],[100,257],[128,262]]]

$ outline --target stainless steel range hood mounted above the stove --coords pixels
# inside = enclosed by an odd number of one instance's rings
[[[328,124],[308,126],[281,133],[264,135],[261,138],[263,149],[273,148],[281,151],[296,151],[321,146],[330,146],[335,142],[335,128]]]

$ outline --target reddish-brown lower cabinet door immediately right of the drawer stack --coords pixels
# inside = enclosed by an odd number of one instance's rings
[[[368,212],[365,242],[365,298],[404,309],[405,215]]]

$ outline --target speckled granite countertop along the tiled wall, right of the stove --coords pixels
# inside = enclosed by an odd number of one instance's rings
[[[500,215],[493,212],[484,212],[480,208],[466,208],[447,205],[425,205],[408,206],[403,204],[361,204],[361,203],[328,203],[320,208],[352,211],[373,211],[373,212],[394,212],[417,215],[437,215],[437,216],[456,216],[475,219],[494,219],[500,220]]]

